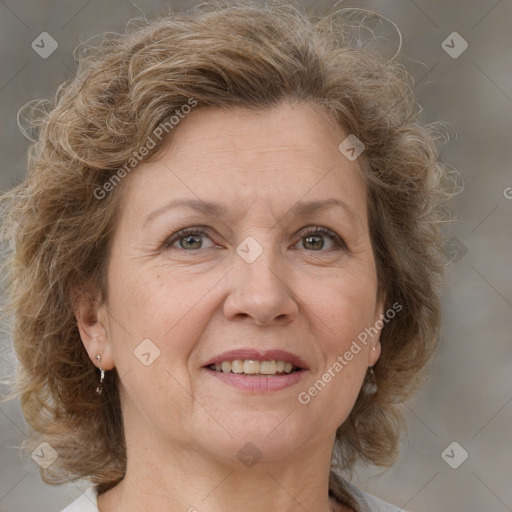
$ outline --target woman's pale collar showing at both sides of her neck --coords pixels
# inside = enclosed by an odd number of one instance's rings
[[[406,512],[385,501],[358,489],[355,485],[339,476],[332,476],[329,481],[331,496],[355,512]],[[99,512],[96,488],[89,487],[80,498],[61,512]]]

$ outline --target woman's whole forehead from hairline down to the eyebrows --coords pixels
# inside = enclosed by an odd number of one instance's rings
[[[147,213],[170,199],[222,202],[235,210],[261,202],[268,211],[336,198],[365,220],[365,184],[357,161],[338,149],[347,137],[309,104],[271,109],[197,109],[182,120],[159,157],[142,162],[123,193]],[[264,203],[264,204],[263,204]]]

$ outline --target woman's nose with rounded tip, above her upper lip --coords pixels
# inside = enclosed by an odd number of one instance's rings
[[[288,284],[290,270],[271,252],[264,250],[252,263],[236,256],[230,293],[224,303],[229,320],[245,318],[256,325],[283,326],[297,317],[297,301]]]

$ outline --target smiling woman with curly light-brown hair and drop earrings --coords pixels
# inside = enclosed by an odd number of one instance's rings
[[[66,511],[398,510],[349,480],[396,459],[439,336],[407,78],[278,3],[82,58],[3,197],[30,449],[94,485]]]

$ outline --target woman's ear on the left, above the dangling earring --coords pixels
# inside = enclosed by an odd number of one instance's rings
[[[115,364],[109,338],[107,306],[101,302],[99,293],[94,294],[85,288],[80,290],[73,300],[73,311],[89,358],[98,367],[96,355],[99,354],[103,370],[112,370]]]

